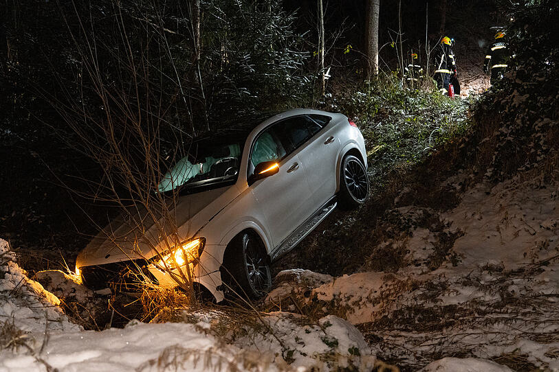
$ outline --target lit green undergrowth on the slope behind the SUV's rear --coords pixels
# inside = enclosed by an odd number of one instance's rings
[[[370,170],[382,176],[417,163],[468,128],[469,102],[435,90],[406,89],[391,79],[355,85],[327,106],[353,118],[363,132]]]

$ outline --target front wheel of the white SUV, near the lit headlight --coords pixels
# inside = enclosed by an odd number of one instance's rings
[[[250,232],[234,237],[223,257],[222,277],[234,297],[259,299],[272,287],[272,272],[265,247],[260,238]]]

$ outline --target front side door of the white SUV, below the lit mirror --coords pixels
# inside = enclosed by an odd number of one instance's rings
[[[248,172],[263,161],[278,161],[279,172],[250,185],[261,216],[265,216],[274,247],[302,224],[312,208],[305,166],[278,137],[278,124],[263,130],[252,144]]]

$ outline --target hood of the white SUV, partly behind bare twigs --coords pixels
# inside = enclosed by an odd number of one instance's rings
[[[149,259],[168,248],[163,235],[192,237],[239,195],[235,185],[179,196],[175,209],[154,218],[144,207],[129,209],[102,229],[78,254],[76,266]],[[176,220],[176,222],[173,222]]]

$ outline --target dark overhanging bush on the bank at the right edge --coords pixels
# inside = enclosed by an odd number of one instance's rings
[[[494,181],[530,170],[559,151],[559,3],[506,3],[514,58],[501,82],[474,108],[477,140],[484,143],[480,169]],[[551,168],[555,164],[551,165]],[[549,176],[549,174],[548,174]]]

